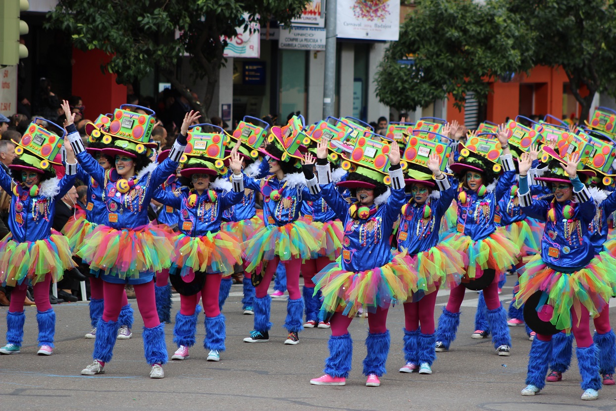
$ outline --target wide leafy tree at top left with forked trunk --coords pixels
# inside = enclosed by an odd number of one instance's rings
[[[157,67],[172,86],[207,120],[219,69],[225,62],[225,38],[251,23],[290,23],[309,0],[59,0],[47,27],[73,37],[76,48],[100,49],[111,56],[103,70],[127,84]],[[248,18],[245,16],[248,14]],[[194,99],[176,70],[190,56],[194,78],[206,79],[201,101]]]

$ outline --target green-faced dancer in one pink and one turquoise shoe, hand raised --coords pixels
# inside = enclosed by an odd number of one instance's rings
[[[421,293],[410,296],[404,303],[403,353],[407,363],[400,368],[401,373],[416,370],[419,374],[432,373],[432,363],[436,360],[436,296],[441,285],[458,286],[464,270],[465,256],[445,243],[439,244],[440,220],[456,193],[456,184],[441,172],[440,164],[439,155],[431,154],[428,169],[432,176],[409,168],[410,178],[405,179],[411,195],[400,214],[398,250],[408,252],[408,264],[418,270],[419,278],[426,280],[428,291],[423,296]]]

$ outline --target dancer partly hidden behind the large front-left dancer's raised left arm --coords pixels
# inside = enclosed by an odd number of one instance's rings
[[[115,164],[112,156],[103,154],[102,149],[109,147],[111,136],[107,134],[111,115],[99,115],[99,118],[94,123],[87,123],[86,134],[89,136],[86,151],[99,162],[100,167],[107,171]],[[103,139],[107,144],[103,143]],[[69,218],[63,232],[68,238],[68,245],[71,247],[73,255],[76,255],[84,239],[94,231],[94,228],[99,225],[108,225],[108,210],[107,204],[102,201],[103,186],[100,185],[94,178],[86,173],[81,167],[77,166],[77,178],[84,181],[87,185],[87,205],[83,214],[78,218]],[[87,267],[87,265],[86,265]],[[86,333],[85,338],[96,338],[96,325],[103,315],[103,280],[100,278],[100,272],[90,272],[90,323],[92,330]],[[131,304],[126,297],[126,291],[122,293],[122,309],[120,310],[120,330],[118,330],[118,339],[129,339],[132,337],[132,322],[133,310]]]

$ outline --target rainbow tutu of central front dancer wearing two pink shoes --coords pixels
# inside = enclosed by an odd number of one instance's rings
[[[361,309],[374,312],[376,307],[404,302],[413,293],[428,291],[426,281],[407,265],[405,252],[393,252],[394,257],[383,267],[376,267],[359,273],[342,269],[341,258],[331,263],[312,278],[314,292],[320,290],[323,296],[321,311],[331,314],[342,312],[355,317]]]

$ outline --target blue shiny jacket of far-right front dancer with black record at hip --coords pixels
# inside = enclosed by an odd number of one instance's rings
[[[559,272],[575,272],[586,267],[594,257],[589,225],[596,207],[588,188],[575,192],[577,202],[557,202],[548,199],[533,199],[530,191],[520,193],[522,210],[531,218],[545,221],[541,239],[541,259]],[[573,217],[567,220],[562,215],[565,205],[573,205]],[[548,220],[548,212],[554,207],[556,221]]]

